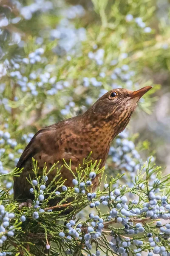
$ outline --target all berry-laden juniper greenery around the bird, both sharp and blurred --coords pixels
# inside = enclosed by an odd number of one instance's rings
[[[149,142],[143,131],[119,134],[105,172],[86,160],[74,174],[71,163],[63,162],[73,174],[70,188],[57,163],[51,168],[56,177],[46,187],[49,172],[44,167],[40,178],[33,160],[30,208],[20,209],[12,188],[12,177],[24,171],[15,166],[34,134],[84,112],[106,91],[154,84],[139,104],[142,122],[144,113],[155,109],[159,83],[169,91],[170,5],[164,0],[2,3],[0,256],[170,256],[170,177],[148,157],[163,151],[167,120],[161,119],[161,127],[150,122]],[[92,192],[99,172],[100,186]],[[53,198],[59,203],[51,207]],[[72,211],[65,214],[67,209]]]

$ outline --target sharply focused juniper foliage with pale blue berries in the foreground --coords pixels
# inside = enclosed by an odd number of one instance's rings
[[[72,172],[71,161],[69,165],[64,164]],[[170,224],[159,221],[160,218],[170,219],[170,175],[163,175],[151,158],[138,170],[131,188],[117,186],[121,175],[111,177],[106,183],[104,168],[99,169],[99,163],[92,164],[88,160],[79,165],[76,173],[72,172],[74,186],[69,188],[59,178],[62,167],[58,169],[55,164],[49,172],[44,167],[41,179],[35,160],[33,166],[34,180],[28,180],[34,193],[32,207],[20,209],[16,202],[9,202],[7,191],[1,191],[0,246],[3,252],[11,252],[11,255],[49,252],[49,255],[138,256],[137,253],[149,250],[160,255],[170,254]],[[54,168],[56,177],[46,187],[45,182]],[[91,181],[99,173],[102,173],[99,187],[92,192]],[[153,173],[156,174],[154,182],[150,180]],[[18,174],[15,170],[10,175]],[[59,188],[62,188],[61,193]],[[56,197],[59,203],[49,207],[48,202]],[[68,198],[73,201],[67,203]],[[65,215],[69,207],[72,210]],[[90,214],[82,220],[77,212],[85,207]]]

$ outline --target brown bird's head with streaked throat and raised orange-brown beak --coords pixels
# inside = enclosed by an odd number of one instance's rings
[[[146,86],[136,91],[118,88],[105,93],[91,107],[94,119],[111,123],[117,132],[123,131],[134,112],[139,99],[150,90],[152,86]]]

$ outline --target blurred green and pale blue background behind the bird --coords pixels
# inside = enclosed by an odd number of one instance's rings
[[[0,172],[40,128],[83,113],[112,88],[153,85],[106,169],[130,184],[153,154],[169,173],[169,13],[166,0],[2,0]],[[4,185],[12,194],[11,180]]]

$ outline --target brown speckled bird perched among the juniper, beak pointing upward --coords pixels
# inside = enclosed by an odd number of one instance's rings
[[[101,159],[100,168],[102,168],[108,157],[112,140],[125,129],[137,102],[151,88],[152,86],[147,86],[136,91],[122,88],[111,90],[82,115],[38,131],[17,163],[17,168],[24,169],[20,177],[14,177],[14,199],[24,202],[34,198],[29,192],[31,185],[26,180],[28,173],[33,178],[32,157],[38,161],[40,174],[45,162],[49,170],[57,161],[61,166],[63,158],[66,162],[71,159],[74,171],[91,151],[93,152],[91,160]],[[48,175],[48,184],[54,176],[55,170]],[[96,175],[93,180],[93,190],[98,186],[98,177],[99,175]],[[72,186],[73,176],[65,167],[62,168],[62,178],[67,179],[65,186]]]

